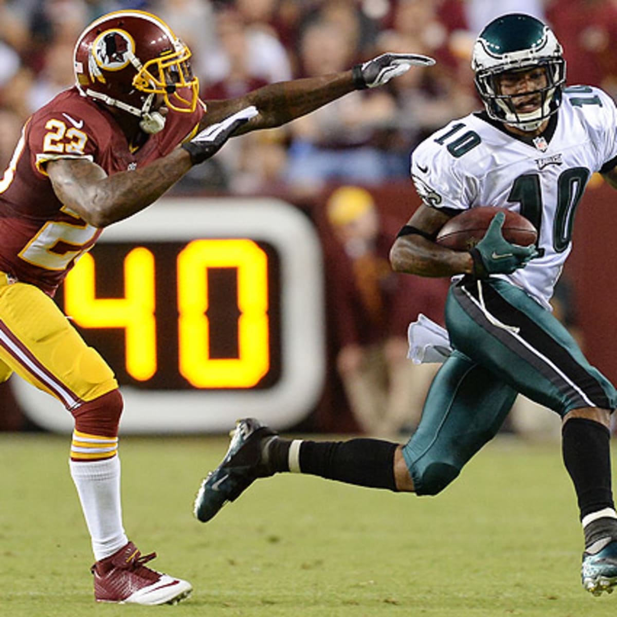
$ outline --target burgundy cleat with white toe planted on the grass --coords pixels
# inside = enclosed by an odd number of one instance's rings
[[[119,604],[176,604],[193,591],[189,582],[162,574],[144,563],[156,557],[141,553],[129,542],[110,557],[97,561],[94,574],[94,598],[97,602]]]

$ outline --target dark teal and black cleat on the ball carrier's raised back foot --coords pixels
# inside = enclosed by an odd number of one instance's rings
[[[254,418],[236,422],[231,443],[221,464],[201,484],[194,515],[202,523],[209,521],[228,501],[234,501],[257,478],[274,474],[263,460],[263,451],[276,432]]]

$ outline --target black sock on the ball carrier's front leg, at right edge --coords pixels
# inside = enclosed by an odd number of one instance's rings
[[[574,482],[581,520],[604,508],[615,509],[611,491],[610,431],[594,420],[570,418],[561,433],[563,462]]]

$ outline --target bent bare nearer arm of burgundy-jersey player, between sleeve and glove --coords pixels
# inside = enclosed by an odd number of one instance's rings
[[[52,160],[46,172],[62,204],[101,228],[154,203],[191,166],[189,153],[178,148],[147,167],[112,176],[87,159]]]

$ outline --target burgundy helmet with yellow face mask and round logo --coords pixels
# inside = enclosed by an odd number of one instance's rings
[[[197,106],[191,51],[155,15],[118,10],[99,17],[81,33],[74,56],[81,93],[138,116],[146,133],[165,125],[152,110],[157,95],[176,112],[192,113]]]

